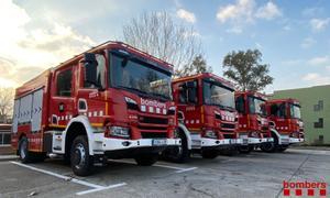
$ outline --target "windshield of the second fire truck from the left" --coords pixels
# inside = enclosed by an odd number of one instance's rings
[[[204,81],[204,101],[206,105],[234,109],[234,91],[226,86]]]

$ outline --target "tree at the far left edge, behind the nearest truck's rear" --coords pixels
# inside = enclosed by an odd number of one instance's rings
[[[13,89],[0,87],[0,122],[8,122],[12,117],[13,110]]]

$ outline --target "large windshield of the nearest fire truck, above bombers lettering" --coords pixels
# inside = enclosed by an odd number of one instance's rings
[[[156,98],[170,99],[170,73],[154,68],[138,58],[111,54],[111,84],[113,87]]]

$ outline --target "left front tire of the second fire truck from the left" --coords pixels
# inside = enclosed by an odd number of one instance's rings
[[[190,157],[190,152],[188,150],[188,142],[185,133],[179,131],[179,136],[182,145],[169,147],[164,151],[164,158],[174,163],[185,163]]]

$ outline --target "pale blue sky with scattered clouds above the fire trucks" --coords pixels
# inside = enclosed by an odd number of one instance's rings
[[[228,52],[258,48],[275,77],[267,92],[330,84],[328,0],[1,0],[0,86],[16,87],[92,45],[121,40],[122,25],[143,11],[194,25],[217,75]]]

